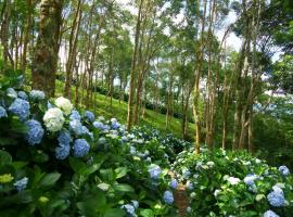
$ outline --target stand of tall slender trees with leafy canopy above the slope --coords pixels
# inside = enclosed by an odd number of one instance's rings
[[[99,106],[99,88],[110,105],[127,93],[128,129],[148,103],[164,107],[166,129],[179,114],[184,139],[194,123],[198,153],[219,142],[253,151],[255,123],[275,99],[265,93],[292,92],[292,73],[280,73],[284,61],[292,69],[292,9],[290,0],[4,0],[2,71],[31,69],[33,88],[51,97],[60,72],[76,106]],[[224,25],[231,13],[235,23]],[[231,33],[240,51],[227,46]],[[288,55],[273,64],[280,50]]]

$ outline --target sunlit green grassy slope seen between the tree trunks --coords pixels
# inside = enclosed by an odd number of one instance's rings
[[[63,90],[63,82],[56,80],[56,94],[61,95]],[[110,99],[103,94],[95,93],[97,99],[97,114],[103,115],[106,118],[116,117],[120,123],[125,124],[127,119],[127,103],[113,99],[113,107],[111,110]],[[140,124],[148,124],[161,131],[173,132],[176,137],[181,138],[181,123],[180,119],[171,118],[169,130],[165,129],[165,118],[166,116],[156,113],[152,110],[146,110],[144,118],[140,120]],[[192,138],[192,132],[194,129],[193,124],[189,124],[189,136]]]

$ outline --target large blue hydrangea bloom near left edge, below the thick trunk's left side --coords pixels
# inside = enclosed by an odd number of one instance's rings
[[[18,116],[21,120],[27,119],[30,114],[29,110],[29,103],[26,100],[22,100],[18,98],[16,98],[9,107],[9,111],[14,115]]]

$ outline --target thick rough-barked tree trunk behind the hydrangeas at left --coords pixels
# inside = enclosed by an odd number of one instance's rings
[[[42,0],[35,56],[33,60],[33,88],[54,97],[61,27],[61,0]]]

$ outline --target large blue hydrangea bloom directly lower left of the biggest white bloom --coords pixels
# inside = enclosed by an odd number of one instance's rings
[[[25,139],[30,145],[39,144],[43,137],[41,124],[35,119],[29,119],[25,123],[28,128]]]

